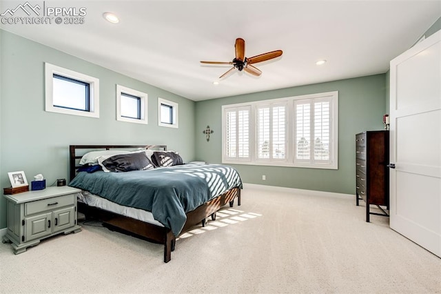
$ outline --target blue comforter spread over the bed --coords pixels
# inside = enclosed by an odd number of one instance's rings
[[[231,166],[185,164],[126,173],[81,172],[69,186],[150,211],[177,236],[187,219],[185,213],[231,188],[242,188],[242,181]]]

